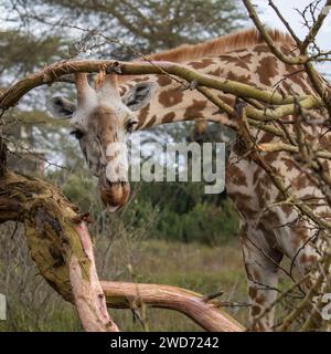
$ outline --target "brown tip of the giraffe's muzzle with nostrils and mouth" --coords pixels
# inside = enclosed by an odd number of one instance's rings
[[[105,175],[99,178],[99,191],[107,211],[120,209],[129,199],[130,184],[128,181],[109,183]]]

